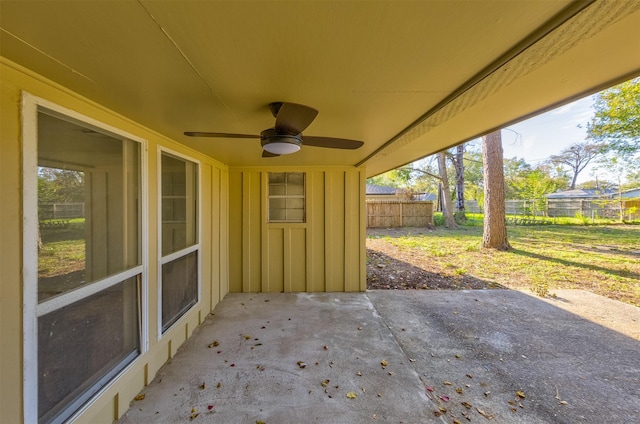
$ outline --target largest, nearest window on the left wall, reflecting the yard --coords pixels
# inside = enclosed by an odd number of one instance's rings
[[[37,374],[25,359],[25,395],[33,398],[34,387],[38,422],[57,423],[142,351],[141,143],[35,110],[37,166],[25,166],[25,187],[37,184],[37,212],[25,208],[25,215],[37,218],[37,228],[25,224],[25,240],[38,247],[25,267],[37,257],[37,276],[25,277],[25,327],[36,331],[25,336],[25,351],[36,348]],[[25,205],[29,192],[36,191],[25,190]]]

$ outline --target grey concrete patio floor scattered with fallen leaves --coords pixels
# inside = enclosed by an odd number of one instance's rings
[[[229,294],[120,423],[638,422],[640,309],[556,294]]]

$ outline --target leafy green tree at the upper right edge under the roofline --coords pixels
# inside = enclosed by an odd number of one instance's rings
[[[589,139],[621,154],[640,150],[640,77],[596,94],[593,107]]]

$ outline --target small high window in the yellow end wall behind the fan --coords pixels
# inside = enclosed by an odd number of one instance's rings
[[[269,222],[305,222],[304,172],[269,173]]]

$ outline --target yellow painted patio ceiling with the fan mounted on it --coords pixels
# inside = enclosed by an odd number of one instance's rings
[[[636,1],[0,1],[0,53],[230,166],[372,176],[640,74]],[[267,105],[359,139],[261,158]]]

